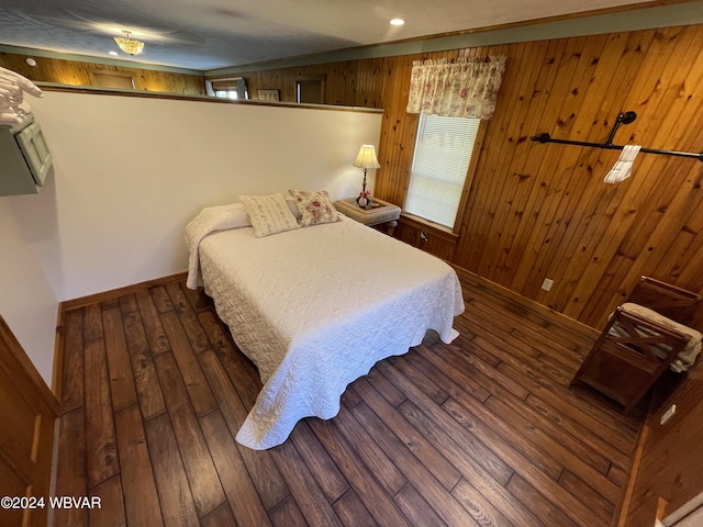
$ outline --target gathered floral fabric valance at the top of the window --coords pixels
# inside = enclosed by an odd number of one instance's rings
[[[414,60],[408,113],[491,119],[505,61],[504,55]]]

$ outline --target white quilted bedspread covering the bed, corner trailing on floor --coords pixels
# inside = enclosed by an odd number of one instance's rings
[[[438,258],[342,214],[257,237],[245,211],[209,208],[187,228],[187,284],[202,279],[264,384],[239,444],[271,448],[301,418],[334,417],[352,381],[428,329],[456,337],[461,287]]]

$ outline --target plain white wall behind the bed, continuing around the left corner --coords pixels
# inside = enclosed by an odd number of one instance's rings
[[[185,271],[185,226],[203,206],[291,187],[356,195],[352,162],[381,126],[366,111],[53,91],[30,102],[54,170],[40,194],[0,198],[12,254],[0,310],[47,382],[57,301]]]

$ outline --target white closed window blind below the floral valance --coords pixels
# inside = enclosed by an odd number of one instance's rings
[[[480,123],[420,115],[405,212],[454,227]]]

